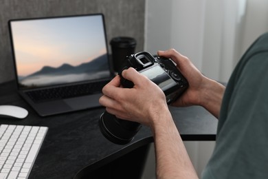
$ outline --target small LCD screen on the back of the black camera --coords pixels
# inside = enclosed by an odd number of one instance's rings
[[[177,85],[177,83],[170,76],[168,76],[168,74],[159,65],[155,65],[140,73],[144,74],[150,79],[150,81],[153,81],[155,84],[157,84],[163,92],[165,92],[166,89],[170,89],[171,87]]]

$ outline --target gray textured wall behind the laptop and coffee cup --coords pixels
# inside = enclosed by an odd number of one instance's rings
[[[0,4],[0,83],[14,79],[9,19],[103,13],[108,43],[115,36],[132,36],[136,51],[144,50],[144,0],[0,0]]]

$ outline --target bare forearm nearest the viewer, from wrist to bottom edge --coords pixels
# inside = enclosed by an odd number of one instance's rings
[[[157,178],[198,178],[170,112],[153,118]]]

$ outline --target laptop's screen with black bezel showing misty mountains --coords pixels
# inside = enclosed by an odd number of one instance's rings
[[[102,14],[11,20],[19,88],[109,78]]]

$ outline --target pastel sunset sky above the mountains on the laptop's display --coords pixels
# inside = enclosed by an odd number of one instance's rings
[[[107,53],[101,16],[12,22],[19,76],[43,66],[80,65]]]

